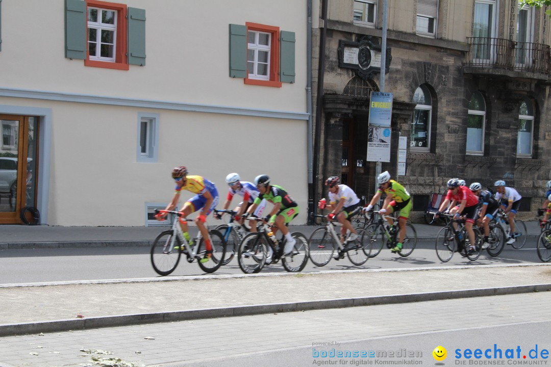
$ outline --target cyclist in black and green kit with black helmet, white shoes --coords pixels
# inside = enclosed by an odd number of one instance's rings
[[[264,222],[268,225],[276,224],[277,229],[279,229],[287,242],[283,248],[283,256],[289,256],[293,254],[293,249],[295,247],[296,240],[291,237],[289,228],[285,224],[288,224],[293,218],[299,213],[299,205],[289,196],[287,191],[284,188],[278,185],[271,185],[270,178],[266,174],[261,174],[255,178],[255,185],[260,194],[257,196],[252,205],[247,209],[247,215],[255,212],[258,204],[262,199],[271,202],[273,204],[272,210],[269,214],[264,217]],[[276,231],[273,231],[276,234]],[[268,259],[272,256],[272,248],[268,247],[269,254]],[[268,262],[267,259],[267,262]]]

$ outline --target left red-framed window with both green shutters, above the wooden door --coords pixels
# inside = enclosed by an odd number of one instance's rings
[[[100,68],[145,65],[145,10],[98,0],[65,4],[65,57]]]

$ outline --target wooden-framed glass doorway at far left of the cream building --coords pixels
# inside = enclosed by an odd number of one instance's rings
[[[39,118],[0,114],[0,224],[21,223],[36,207]]]

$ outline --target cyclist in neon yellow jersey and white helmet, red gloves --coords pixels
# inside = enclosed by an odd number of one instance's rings
[[[366,206],[364,210],[370,211],[373,209],[373,205],[379,200],[382,193],[384,192],[386,194],[385,201],[383,201],[382,209],[379,213],[384,215],[387,211],[389,213],[393,211],[400,212],[398,219],[398,226],[400,228],[399,239],[396,247],[391,249],[392,253],[399,253],[402,251],[402,243],[404,238],[406,238],[406,222],[409,218],[409,212],[412,210],[413,201],[408,191],[401,184],[390,179],[390,173],[388,173],[388,171],[381,173],[379,177],[377,177],[377,183],[379,183],[379,189],[377,189],[369,205]],[[392,218],[388,218],[388,223],[393,226],[394,221]]]

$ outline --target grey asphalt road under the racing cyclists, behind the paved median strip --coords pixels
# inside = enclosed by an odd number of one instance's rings
[[[455,254],[446,263],[436,256],[434,240],[419,241],[417,248],[407,258],[391,254],[383,249],[375,258],[362,266],[354,266],[348,258],[331,260],[324,267],[316,267],[308,262],[303,272],[347,269],[396,269],[403,267],[439,267],[461,265],[522,264],[540,263],[533,240],[528,239],[520,250],[507,246],[497,258],[485,252],[477,261],[471,262]],[[265,272],[285,272],[279,263],[264,267]],[[241,274],[237,260],[221,267],[217,274]],[[196,262],[189,264],[182,258],[171,276],[201,275]],[[54,281],[105,280],[120,278],[156,277],[157,273],[149,260],[147,247],[106,247],[33,249],[0,251],[0,284],[34,283]],[[206,275],[208,276],[208,275]]]

